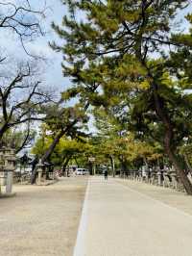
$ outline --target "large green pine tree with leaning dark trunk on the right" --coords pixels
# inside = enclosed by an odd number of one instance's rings
[[[152,124],[159,123],[166,154],[186,192],[192,194],[192,185],[176,155],[177,144],[189,134],[185,120],[191,119],[191,95],[183,93],[191,89],[192,83],[189,71],[192,31],[184,34],[175,29],[180,28],[176,24],[177,13],[188,1],[65,0],[63,3],[70,14],[64,16],[63,28],[55,24],[53,28],[64,42],[53,46],[63,53],[64,65],[70,67],[81,62],[82,68],[90,63],[100,66],[106,77],[101,81],[106,92],[113,88],[118,93],[119,87],[121,90],[129,85],[128,102],[136,113],[137,123],[143,126],[143,114],[151,115]],[[79,12],[84,17],[81,20],[76,18]],[[186,18],[192,22],[191,15]],[[119,84],[122,80],[126,83]]]

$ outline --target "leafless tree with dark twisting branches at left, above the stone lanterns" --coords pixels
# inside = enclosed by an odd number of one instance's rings
[[[7,64],[5,64],[7,67]],[[36,81],[34,63],[22,63],[14,71],[0,70],[0,141],[12,127],[43,120],[41,108],[52,100],[51,92]]]

